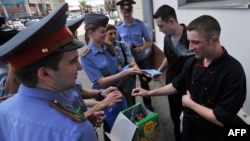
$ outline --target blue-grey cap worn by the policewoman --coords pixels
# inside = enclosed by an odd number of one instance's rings
[[[109,18],[103,14],[86,14],[84,17],[85,24],[94,24],[98,26],[106,27]]]

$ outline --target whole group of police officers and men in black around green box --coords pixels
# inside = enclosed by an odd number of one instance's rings
[[[152,17],[165,34],[165,58],[157,70],[166,71],[166,85],[150,90],[149,82],[159,76],[141,69],[149,68],[145,50],[153,41],[132,16],[135,3],[116,3],[123,17],[117,25],[93,13],[67,22],[68,4],[62,3],[1,42],[0,140],[98,141],[95,128],[110,132],[135,96],[151,111],[152,96],[168,96],[176,141],[222,141],[224,126],[244,124],[237,112],[246,99],[246,76],[220,44],[219,22],[201,15],[188,25],[178,23],[174,8],[160,6]],[[85,43],[76,34],[82,23]],[[91,88],[81,84],[78,71],[86,73]],[[117,109],[105,112],[110,107]],[[104,140],[110,139],[104,134]]]

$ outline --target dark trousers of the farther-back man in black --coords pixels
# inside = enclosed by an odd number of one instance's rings
[[[174,137],[176,141],[181,141],[180,132],[180,115],[183,110],[181,94],[174,94],[168,96],[170,117],[174,123]]]

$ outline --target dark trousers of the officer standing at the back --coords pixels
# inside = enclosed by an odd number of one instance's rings
[[[136,61],[136,63],[140,67],[140,69],[148,69],[147,59],[138,60],[138,61]],[[141,75],[139,75],[139,80],[141,83],[141,87],[143,89],[149,90],[148,82],[145,81],[145,79],[143,79]],[[134,98],[134,101],[135,101],[135,98]],[[151,104],[152,104],[151,97],[143,97],[143,102],[144,102],[146,107],[151,106]]]

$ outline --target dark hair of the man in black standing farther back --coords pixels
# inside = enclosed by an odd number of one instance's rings
[[[178,22],[174,8],[169,5],[162,5],[157,9],[155,14],[153,15],[153,18],[156,19],[159,17],[162,19],[162,21],[165,22],[168,22],[170,18],[173,18],[176,22]]]

